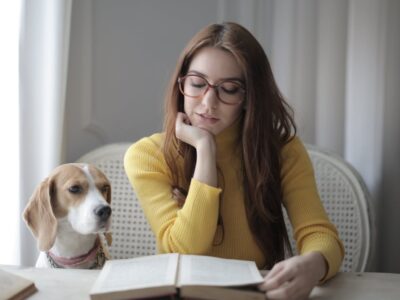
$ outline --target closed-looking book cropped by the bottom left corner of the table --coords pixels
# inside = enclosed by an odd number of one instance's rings
[[[0,299],[22,300],[36,291],[33,281],[0,269]]]

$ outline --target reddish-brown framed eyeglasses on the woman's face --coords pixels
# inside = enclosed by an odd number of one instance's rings
[[[189,74],[178,78],[179,90],[187,97],[201,98],[210,88],[215,90],[217,98],[225,104],[235,105],[244,100],[246,90],[242,84],[233,80],[224,80],[211,84],[202,76]]]

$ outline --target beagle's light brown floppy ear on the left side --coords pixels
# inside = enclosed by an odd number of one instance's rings
[[[56,239],[57,219],[51,198],[54,197],[54,180],[46,178],[33,192],[23,212],[23,218],[37,239],[41,251],[49,250]]]

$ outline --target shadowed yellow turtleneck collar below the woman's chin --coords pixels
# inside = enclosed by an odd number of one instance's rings
[[[216,135],[217,160],[229,158],[240,150],[238,147],[241,140],[242,119],[243,117],[239,117],[231,126]]]

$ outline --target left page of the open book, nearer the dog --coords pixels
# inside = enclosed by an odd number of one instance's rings
[[[175,285],[179,254],[109,260],[91,293]]]

